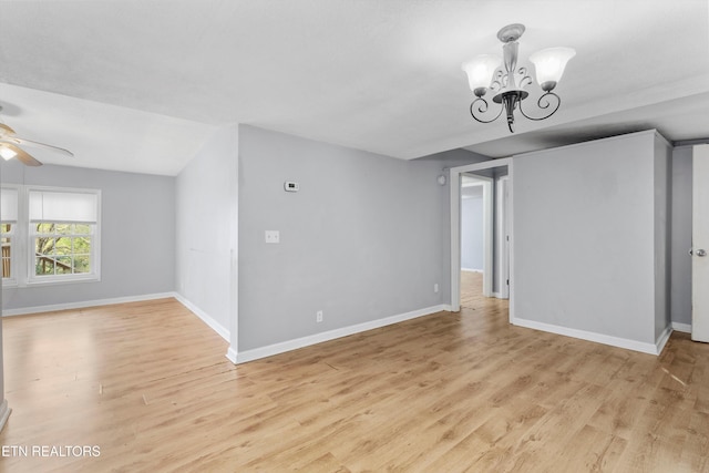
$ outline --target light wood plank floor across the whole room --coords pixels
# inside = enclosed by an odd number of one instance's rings
[[[234,367],[172,299],[3,327],[0,445],[101,449],[3,471],[709,470],[709,346],[681,333],[658,358],[486,299]]]

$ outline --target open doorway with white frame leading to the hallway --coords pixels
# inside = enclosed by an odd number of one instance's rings
[[[510,318],[513,316],[510,270],[512,266],[512,160],[494,160],[450,169],[451,178],[451,310],[460,311],[463,279],[469,284],[466,268],[471,256],[462,248],[463,233],[467,222],[463,214],[471,206],[469,199],[482,197],[476,204],[482,207],[482,281],[477,276],[484,297],[510,298]],[[470,191],[477,187],[475,191]],[[474,196],[474,197],[471,197]],[[470,243],[470,241],[467,241]],[[463,259],[465,257],[465,260]],[[465,291],[469,294],[469,290]]]

